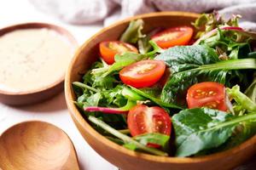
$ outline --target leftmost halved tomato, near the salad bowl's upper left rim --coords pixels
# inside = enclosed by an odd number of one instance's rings
[[[123,54],[127,51],[138,53],[137,48],[132,46],[130,43],[119,41],[107,41],[100,43],[102,59],[104,59],[108,65],[113,64],[115,54]]]

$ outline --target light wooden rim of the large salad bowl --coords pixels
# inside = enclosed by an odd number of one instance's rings
[[[119,26],[120,24],[129,22],[131,20],[137,20],[137,19],[144,19],[144,18],[150,18],[150,17],[159,17],[159,16],[188,16],[188,17],[198,17],[199,14],[195,13],[188,13],[188,12],[180,12],[180,11],[170,11],[170,12],[157,12],[157,13],[149,13],[149,14],[140,14],[137,16],[132,16],[130,18],[127,18],[125,20],[120,20],[116,23],[114,23],[111,26],[108,26],[106,28],[103,28],[101,31],[98,31],[94,36],[90,37],[80,48],[77,50],[77,53],[73,57],[70,65],[68,66],[67,74],[65,77],[65,98],[67,102],[67,108],[69,110],[69,114],[73,117],[74,121],[79,122],[79,125],[83,127],[84,129],[87,129],[87,133],[90,133],[91,136],[94,136],[96,139],[100,140],[102,143],[108,145],[112,150],[116,150],[118,152],[121,152],[122,154],[125,154],[127,156],[133,156],[137,157],[137,159],[143,159],[147,161],[154,161],[154,162],[160,162],[160,163],[199,163],[203,161],[212,161],[224,157],[228,157],[233,155],[234,153],[244,150],[251,144],[256,144],[256,135],[254,135],[251,139],[247,139],[247,141],[243,142],[242,144],[231,148],[230,150],[224,150],[218,153],[214,153],[208,156],[197,156],[197,157],[164,157],[164,156],[154,156],[149,155],[146,153],[137,152],[134,150],[128,150],[125,147],[115,144],[111,140],[105,138],[101,133],[98,133],[93,127],[90,126],[90,124],[84,119],[84,117],[81,115],[79,110],[77,109],[76,105],[73,103],[72,98],[72,83],[70,82],[71,77],[71,71],[73,68],[74,63],[79,57],[79,54],[81,53],[82,49],[87,46],[90,41],[94,40],[95,37],[101,35],[105,31],[108,31],[109,29],[112,29],[115,26]]]

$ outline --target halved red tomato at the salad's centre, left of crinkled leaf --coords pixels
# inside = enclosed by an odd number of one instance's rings
[[[135,88],[154,85],[164,75],[166,64],[160,60],[141,60],[119,71],[122,82]]]

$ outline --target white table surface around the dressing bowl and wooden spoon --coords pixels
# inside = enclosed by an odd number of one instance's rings
[[[0,4],[0,28],[22,22],[48,22],[66,28],[79,44],[102,28],[102,26],[70,26],[61,23],[39,12],[27,0],[0,0]],[[91,149],[80,135],[67,112],[64,93],[38,105],[12,107],[0,103],[0,134],[12,125],[27,120],[41,120],[61,127],[73,140],[81,170],[118,169]]]

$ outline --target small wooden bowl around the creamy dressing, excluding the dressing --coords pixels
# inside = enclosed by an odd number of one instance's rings
[[[61,28],[60,26],[55,26],[55,25],[46,24],[46,23],[33,22],[33,23],[25,23],[25,24],[5,27],[3,29],[0,29],[0,37],[11,31],[22,30],[22,29],[37,29],[37,28],[38,29],[47,28],[49,30],[56,31],[62,37],[65,37],[65,39],[68,42],[70,42],[70,45],[71,45],[71,48],[73,48],[73,51],[75,51],[76,48],[78,47],[78,42],[76,42],[75,38],[67,30],[65,30],[64,28]],[[64,77],[65,75],[63,74],[62,77],[59,77],[59,79],[55,80],[55,82],[49,84],[47,87],[38,88],[35,90],[22,91],[22,92],[9,92],[9,91],[4,91],[0,89],[0,102],[3,102],[8,105],[28,105],[28,104],[37,103],[44,99],[49,99],[51,96],[62,91],[62,89],[64,88],[64,83],[63,83]]]

